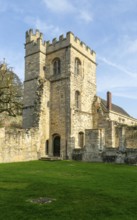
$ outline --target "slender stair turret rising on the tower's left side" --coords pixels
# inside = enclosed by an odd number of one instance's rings
[[[42,33],[30,29],[26,32],[25,43],[25,81],[23,127],[37,126],[36,100],[39,79],[44,79],[46,44],[42,42]]]

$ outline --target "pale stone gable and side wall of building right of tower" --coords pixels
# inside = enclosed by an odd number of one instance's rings
[[[127,139],[125,144],[125,135],[128,130],[125,125],[134,125],[137,120],[113,111],[105,111],[101,106],[101,99],[95,97],[93,103],[93,124],[94,128],[104,128],[105,130],[105,146],[106,148],[124,149],[126,146],[134,146],[133,141]],[[131,143],[130,143],[131,142]]]

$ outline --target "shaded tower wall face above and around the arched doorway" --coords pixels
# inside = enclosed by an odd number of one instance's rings
[[[49,47],[48,47],[49,48]],[[53,61],[60,59],[60,74],[54,75]],[[66,157],[66,142],[70,127],[70,80],[69,80],[69,48],[56,50],[56,44],[52,50],[47,49],[45,77],[50,82],[49,101],[49,148],[50,156],[53,155],[53,138],[59,135],[61,138],[60,155]]]

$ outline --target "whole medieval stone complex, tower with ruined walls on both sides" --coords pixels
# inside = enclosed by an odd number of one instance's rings
[[[23,129],[0,128],[0,162],[137,162],[137,120],[97,96],[96,54],[73,33],[26,32]]]

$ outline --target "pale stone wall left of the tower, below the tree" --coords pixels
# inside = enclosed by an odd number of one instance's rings
[[[0,128],[0,163],[37,160],[39,146],[36,129]]]

